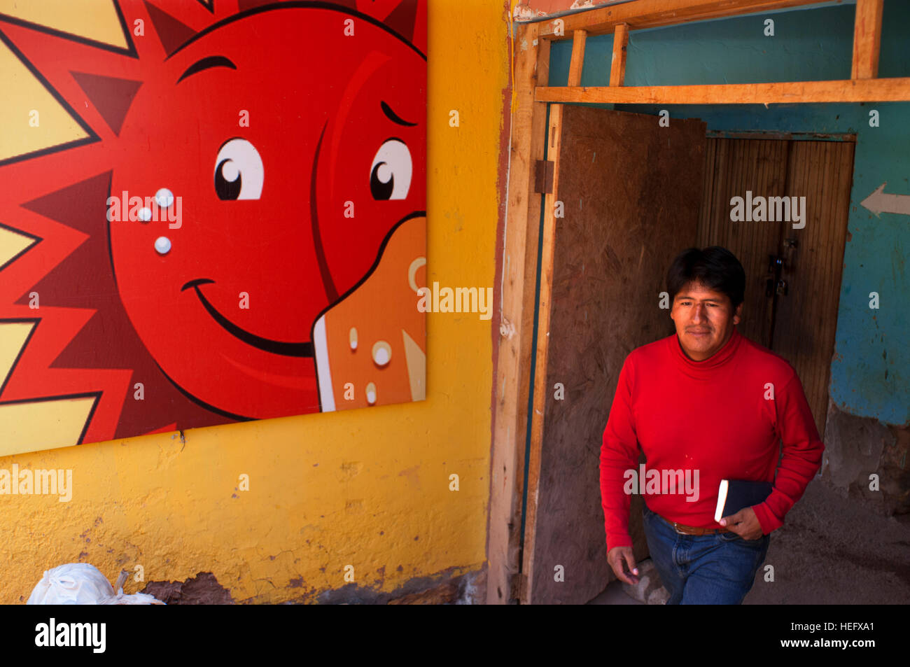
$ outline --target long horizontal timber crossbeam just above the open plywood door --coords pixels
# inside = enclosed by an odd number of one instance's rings
[[[811,102],[910,102],[910,78],[794,81],[718,86],[539,87],[538,102],[662,105],[769,105]]]

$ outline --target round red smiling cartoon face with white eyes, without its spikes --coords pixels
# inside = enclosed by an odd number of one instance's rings
[[[126,312],[197,402],[317,410],[313,322],[425,208],[426,59],[365,16],[275,5],[196,35],[161,73],[111,184],[160,194],[153,219],[108,223]]]

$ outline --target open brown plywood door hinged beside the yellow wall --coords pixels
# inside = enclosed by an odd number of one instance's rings
[[[561,132],[549,139],[558,147],[551,201],[564,217],[547,218],[555,228],[541,321],[549,328],[538,331],[536,369],[546,382],[535,393],[543,424],[531,442],[523,553],[532,603],[583,603],[613,579],[599,486],[603,429],[626,355],[674,330],[659,295],[672,258],[695,242],[706,142],[698,120],[662,127],[656,116],[592,107],[561,113]],[[641,498],[632,500],[642,558]]]

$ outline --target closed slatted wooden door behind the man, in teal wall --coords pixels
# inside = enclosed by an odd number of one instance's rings
[[[710,138],[698,229],[700,247],[723,246],[743,264],[739,330],[794,366],[823,437],[853,160],[852,142]],[[731,199],[747,191],[805,197],[805,227],[733,222]],[[770,255],[784,259],[786,294],[766,294]]]

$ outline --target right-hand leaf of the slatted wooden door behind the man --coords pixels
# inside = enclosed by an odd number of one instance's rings
[[[852,143],[792,142],[786,194],[806,197],[805,227],[784,229],[798,246],[784,270],[773,350],[799,374],[823,439],[853,168]]]

